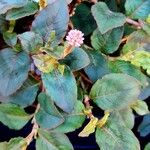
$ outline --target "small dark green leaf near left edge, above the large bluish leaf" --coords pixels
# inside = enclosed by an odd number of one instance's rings
[[[10,32],[4,32],[3,38],[9,46],[15,46],[17,43],[17,34],[16,33],[10,33]]]

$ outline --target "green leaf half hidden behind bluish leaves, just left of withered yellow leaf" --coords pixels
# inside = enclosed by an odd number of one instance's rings
[[[54,129],[56,132],[68,133],[80,128],[85,120],[83,113],[84,105],[76,101],[74,110],[70,114],[62,113],[65,121],[63,124]]]

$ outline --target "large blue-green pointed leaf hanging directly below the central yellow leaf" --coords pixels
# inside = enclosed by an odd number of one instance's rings
[[[42,74],[42,81],[47,94],[63,111],[70,113],[77,100],[76,81],[70,69],[66,67],[64,73],[53,70]]]

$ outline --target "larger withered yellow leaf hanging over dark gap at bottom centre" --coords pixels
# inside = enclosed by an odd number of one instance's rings
[[[84,129],[79,133],[80,137],[88,137],[91,133],[95,132],[95,128],[98,122],[98,118],[92,118],[90,122],[84,127]]]

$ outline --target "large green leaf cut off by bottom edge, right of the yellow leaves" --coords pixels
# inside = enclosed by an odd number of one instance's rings
[[[140,150],[133,132],[111,116],[104,127],[97,128],[96,142],[102,150]]]

